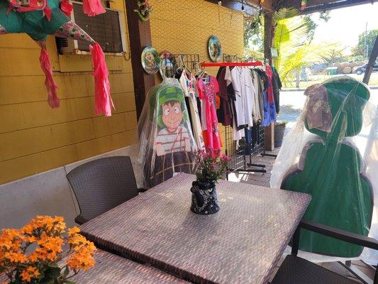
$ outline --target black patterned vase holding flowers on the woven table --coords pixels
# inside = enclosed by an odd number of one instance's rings
[[[219,207],[216,185],[213,182],[194,181],[191,184],[191,212],[201,215],[214,214]]]

